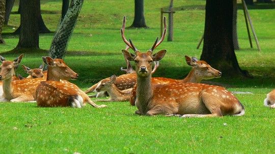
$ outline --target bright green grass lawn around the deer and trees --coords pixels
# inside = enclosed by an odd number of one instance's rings
[[[196,49],[204,30],[205,1],[175,1],[174,42],[164,41],[157,50],[167,49],[166,56],[154,76],[183,78],[190,67],[184,55],[200,57],[202,46]],[[268,4],[270,5],[270,4]],[[54,31],[61,13],[61,1],[41,0],[46,26]],[[141,51],[148,50],[159,35],[159,8],[169,1],[145,1],[145,18],[150,28],[126,29]],[[271,8],[271,9],[266,9]],[[272,9],[273,8],[273,9]],[[15,2],[13,12],[18,9]],[[76,83],[87,89],[93,83],[113,74],[120,75],[125,61],[121,49],[122,18],[126,25],[133,21],[134,2],[84,2],[71,37],[65,61],[79,74]],[[211,81],[225,84],[231,91],[250,91],[252,95],[236,95],[245,106],[241,117],[178,118],[137,116],[136,107],[128,102],[111,102],[107,108],[82,109],[38,108],[35,103],[0,103],[0,153],[273,153],[275,142],[275,110],[263,107],[266,94],[275,87],[275,9],[256,4],[249,10],[262,52],[256,44],[251,49],[246,33],[243,11],[238,10],[238,38],[236,51],[239,65],[254,78],[228,78]],[[4,33],[19,26],[19,15],[11,14]],[[47,55],[53,33],[40,35],[43,50],[12,50],[18,36],[4,34],[6,45],[1,55],[14,59],[25,53],[21,64],[30,68],[41,65]],[[23,69],[17,73],[26,76]]]

